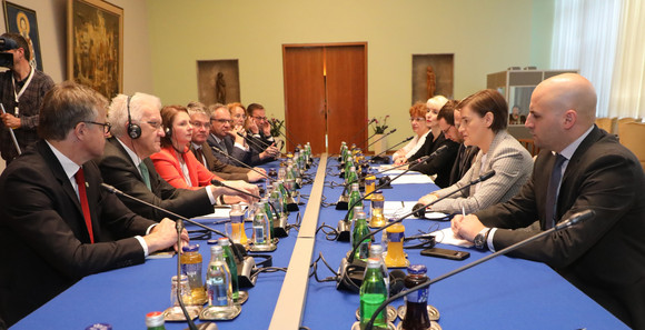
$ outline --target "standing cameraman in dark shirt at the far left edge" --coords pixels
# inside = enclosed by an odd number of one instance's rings
[[[29,64],[33,54],[22,36],[4,33],[0,38],[6,42],[4,52],[13,54],[13,67],[0,73],[0,102],[7,111],[0,114],[0,153],[9,164],[19,154],[9,130],[13,130],[21,151],[38,140],[38,113],[53,81]]]

